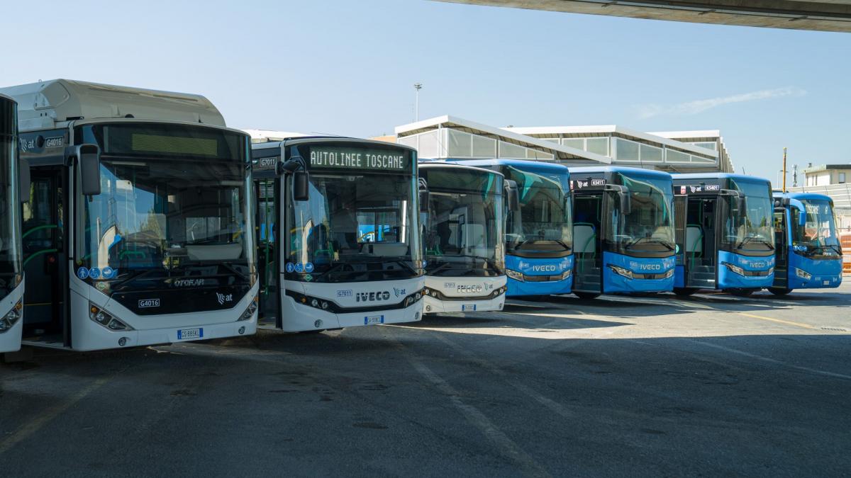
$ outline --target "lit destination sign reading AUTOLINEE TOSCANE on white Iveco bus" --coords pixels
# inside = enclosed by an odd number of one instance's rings
[[[363,171],[408,171],[411,168],[407,151],[328,146],[311,148],[310,166]]]

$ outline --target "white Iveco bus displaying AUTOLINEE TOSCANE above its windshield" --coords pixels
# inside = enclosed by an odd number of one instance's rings
[[[425,283],[416,151],[254,135],[260,327],[419,321]]]

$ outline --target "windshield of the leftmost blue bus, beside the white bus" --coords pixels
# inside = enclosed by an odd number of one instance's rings
[[[517,182],[520,210],[511,211],[505,222],[505,252],[534,250],[536,245],[573,249],[573,226],[568,171],[505,166],[505,179]],[[547,248],[551,250],[551,248]]]

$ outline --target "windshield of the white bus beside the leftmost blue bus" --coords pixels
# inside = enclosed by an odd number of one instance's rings
[[[502,180],[465,168],[422,168],[430,192],[426,274],[499,276],[505,270]],[[462,272],[460,272],[462,271]]]

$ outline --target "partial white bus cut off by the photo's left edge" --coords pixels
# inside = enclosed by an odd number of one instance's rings
[[[19,174],[17,115],[14,100],[0,94],[0,353],[20,349],[23,327],[20,202],[26,196],[19,186],[26,187],[29,174]]]

